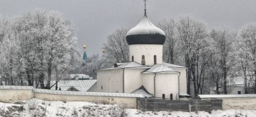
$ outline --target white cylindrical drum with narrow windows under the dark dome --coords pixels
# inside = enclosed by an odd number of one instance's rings
[[[134,61],[139,64],[141,64],[142,55],[145,56],[146,65],[154,65],[154,55],[156,55],[157,64],[163,63],[163,45],[129,45],[129,54],[130,61],[132,61],[132,56],[134,56]]]

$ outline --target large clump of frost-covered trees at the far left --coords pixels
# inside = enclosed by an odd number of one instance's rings
[[[6,28],[6,22],[8,28]],[[35,10],[0,24],[0,75],[10,85],[51,88],[51,80],[59,81],[73,68],[76,38],[70,22],[59,12]],[[13,84],[13,78],[20,79]]]

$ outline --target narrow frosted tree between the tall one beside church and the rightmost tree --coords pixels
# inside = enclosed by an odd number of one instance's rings
[[[228,72],[230,72],[230,68],[232,68],[232,61],[233,61],[233,41],[235,40],[235,35],[230,33],[228,29],[223,28],[222,30],[211,31],[211,39],[212,39],[212,47],[215,52],[215,59],[217,60],[217,68],[219,68],[218,76],[215,76],[217,79],[223,78],[223,91],[224,94],[227,94],[226,85],[227,85],[227,77]],[[217,80],[216,83],[219,83]],[[218,88],[219,85],[216,85]],[[218,92],[218,89],[217,89]]]

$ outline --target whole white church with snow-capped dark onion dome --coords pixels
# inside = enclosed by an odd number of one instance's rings
[[[163,63],[165,33],[147,18],[129,30],[129,62],[95,70],[88,92],[138,93],[146,98],[179,100],[186,94],[186,67]]]

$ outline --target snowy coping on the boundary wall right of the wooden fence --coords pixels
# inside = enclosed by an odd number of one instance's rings
[[[199,98],[250,98],[256,94],[198,94]]]

